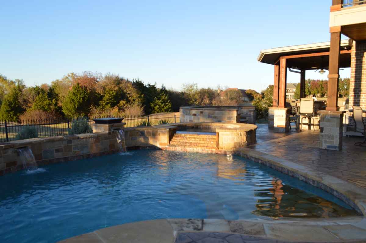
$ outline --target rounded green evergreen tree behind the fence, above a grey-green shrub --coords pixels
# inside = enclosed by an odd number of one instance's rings
[[[86,87],[76,83],[65,97],[62,111],[67,117],[87,116],[90,110],[90,96]]]

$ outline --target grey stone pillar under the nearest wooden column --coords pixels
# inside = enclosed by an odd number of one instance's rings
[[[341,150],[344,111],[318,111],[320,115],[319,147],[321,149]]]

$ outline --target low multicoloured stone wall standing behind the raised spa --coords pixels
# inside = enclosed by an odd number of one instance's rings
[[[180,122],[224,122],[255,124],[254,106],[185,106],[179,109]]]

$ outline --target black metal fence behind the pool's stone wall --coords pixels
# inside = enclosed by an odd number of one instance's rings
[[[112,116],[109,116],[112,117]],[[90,117],[89,124],[93,119],[105,117]],[[156,126],[165,123],[179,122],[179,113],[157,113],[147,116],[125,116],[123,121],[125,127]],[[72,127],[72,120],[20,120],[18,122],[0,121],[0,142],[16,140],[16,135],[23,126],[34,126],[37,129],[38,137],[52,137],[68,135],[68,129]]]

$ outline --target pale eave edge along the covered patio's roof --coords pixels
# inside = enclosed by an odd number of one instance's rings
[[[350,48],[350,40],[341,40],[340,44],[341,49]],[[314,53],[314,52],[323,52],[329,51],[330,42],[319,42],[319,43],[312,43],[312,44],[305,44],[305,45],[294,45],[294,46],[284,46],[284,47],[277,47],[272,49],[263,49],[259,52],[257,60],[259,62],[274,64],[275,60],[280,56],[285,55],[295,55],[295,54],[302,54],[302,53]],[[271,55],[274,58],[271,60],[264,61],[263,58],[266,55]]]

